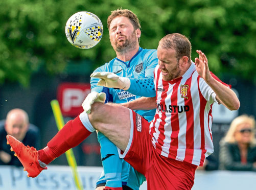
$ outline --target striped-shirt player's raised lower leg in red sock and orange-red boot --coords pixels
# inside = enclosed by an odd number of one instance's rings
[[[83,112],[74,120],[67,122],[64,127],[49,141],[44,149],[37,151],[33,147],[25,146],[16,138],[7,135],[7,144],[15,152],[19,161],[28,172],[29,177],[36,177],[46,165],[65,153],[67,150],[79,145],[95,129],[91,126],[88,115]]]

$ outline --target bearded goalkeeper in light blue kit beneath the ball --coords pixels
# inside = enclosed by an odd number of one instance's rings
[[[110,42],[117,57],[97,68],[91,75],[91,91],[105,92],[106,102],[113,103],[126,103],[152,94],[152,91],[154,94],[153,71],[158,62],[156,50],[139,47],[141,26],[137,16],[130,10],[115,10],[108,17],[107,25]],[[109,75],[107,72],[114,75]],[[117,88],[121,89],[100,86],[106,86],[104,80],[99,81],[99,78],[94,77],[118,80],[120,83]],[[135,80],[127,80],[123,77],[135,78]],[[133,85],[138,82],[142,84],[140,89]],[[155,114],[155,110],[136,112],[148,121],[151,121]],[[97,182],[97,190],[104,186],[106,189],[122,189],[122,186],[123,189],[139,189],[146,178],[119,158],[117,147],[101,132],[98,132],[98,140],[101,145],[104,171]]]

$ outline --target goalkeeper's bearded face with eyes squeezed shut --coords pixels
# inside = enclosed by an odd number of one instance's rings
[[[115,17],[109,26],[109,39],[113,49],[117,52],[134,48],[138,44],[138,38],[141,36],[139,29],[134,27],[125,16]]]

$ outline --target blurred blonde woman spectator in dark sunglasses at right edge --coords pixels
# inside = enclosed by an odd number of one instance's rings
[[[220,169],[256,171],[255,120],[252,116],[236,117],[220,141]]]

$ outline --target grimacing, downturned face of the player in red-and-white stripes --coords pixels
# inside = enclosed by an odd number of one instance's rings
[[[159,69],[161,69],[162,79],[170,81],[181,77],[180,63],[176,58],[176,51],[174,49],[157,48],[157,58]]]

